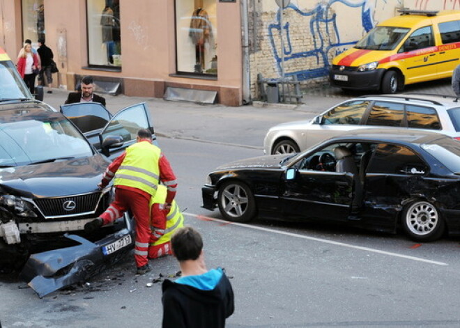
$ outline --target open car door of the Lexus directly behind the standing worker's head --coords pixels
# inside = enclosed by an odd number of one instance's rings
[[[115,159],[125,148],[136,142],[137,132],[140,129],[147,129],[154,133],[145,102],[121,109],[109,120],[99,134],[100,149],[98,150],[109,159]],[[156,143],[155,134],[152,139]]]

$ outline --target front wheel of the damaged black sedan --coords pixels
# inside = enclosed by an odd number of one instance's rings
[[[256,202],[250,188],[243,182],[224,182],[217,194],[222,216],[235,222],[249,222],[256,216]]]

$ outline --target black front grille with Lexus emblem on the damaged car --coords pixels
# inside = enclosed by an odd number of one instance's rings
[[[109,193],[102,196],[102,203],[108,201]],[[66,196],[56,198],[35,198],[33,201],[36,203],[40,211],[45,217],[59,217],[72,214],[80,214],[87,212],[95,212],[98,208],[101,199],[101,192],[93,194],[84,194],[77,196]],[[64,206],[66,202],[71,201],[75,203],[74,209],[66,210]],[[68,204],[68,203],[67,203]]]

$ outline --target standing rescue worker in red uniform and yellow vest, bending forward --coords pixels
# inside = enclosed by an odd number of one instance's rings
[[[151,132],[141,129],[137,132],[137,143],[126,148],[125,153],[107,167],[98,187],[106,187],[112,178],[115,178],[115,201],[98,219],[85,224],[84,229],[87,232],[94,231],[122,217],[126,210],[131,210],[136,221],[137,274],[145,274],[151,271],[147,258],[151,238],[149,203],[161,181],[167,186],[164,209],[169,210],[176,196],[176,176],[160,148],[152,144]]]

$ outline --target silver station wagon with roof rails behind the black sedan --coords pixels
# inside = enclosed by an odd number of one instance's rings
[[[266,154],[298,153],[325,139],[369,127],[431,130],[460,139],[460,102],[440,95],[365,95],[346,100],[312,120],[275,125],[263,141]]]

